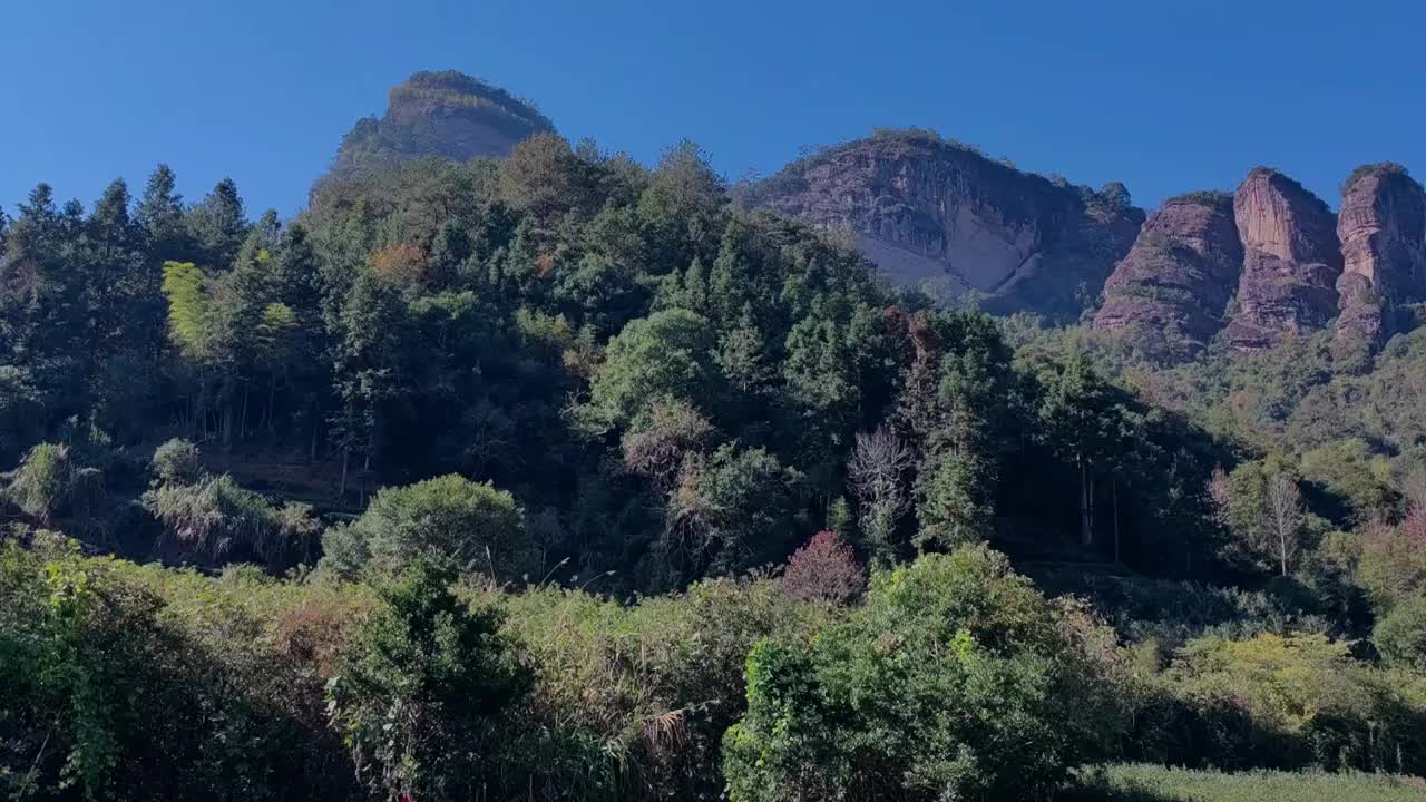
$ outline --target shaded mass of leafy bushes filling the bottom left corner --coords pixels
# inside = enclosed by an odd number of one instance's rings
[[[34,547],[0,547],[0,795],[352,798],[322,678],[264,626],[317,594]]]

